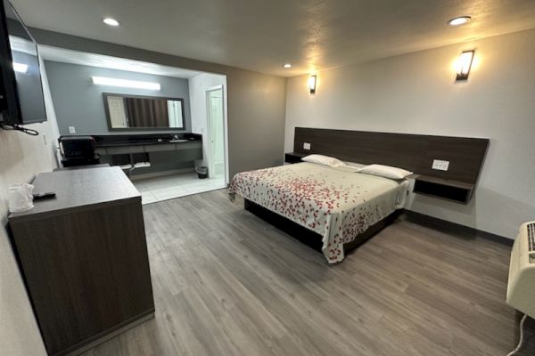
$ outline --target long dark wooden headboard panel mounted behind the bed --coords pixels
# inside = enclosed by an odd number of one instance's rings
[[[310,150],[303,150],[303,143]],[[489,139],[295,128],[293,151],[322,154],[361,164],[398,166],[416,174],[475,184]],[[448,171],[432,169],[433,159],[449,161]]]

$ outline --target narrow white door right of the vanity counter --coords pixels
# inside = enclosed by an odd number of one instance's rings
[[[210,178],[225,179],[225,115],[223,108],[223,89],[206,92],[208,134],[210,142]],[[210,173],[211,172],[211,173]]]

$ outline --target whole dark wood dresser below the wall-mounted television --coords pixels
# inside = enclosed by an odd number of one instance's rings
[[[141,196],[119,167],[37,175],[55,198],[10,214],[49,355],[78,354],[154,315]]]

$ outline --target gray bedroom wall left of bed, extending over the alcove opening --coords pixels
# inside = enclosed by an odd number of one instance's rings
[[[250,70],[38,28],[32,28],[31,33],[39,44],[225,74],[228,95],[230,176],[241,171],[283,164],[286,110],[286,79],[284,77],[268,76]]]

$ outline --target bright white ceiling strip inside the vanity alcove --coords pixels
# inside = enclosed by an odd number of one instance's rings
[[[203,72],[189,69],[162,66],[144,61],[125,60],[103,54],[70,51],[62,48],[39,45],[39,53],[45,61],[79,64],[83,66],[128,70],[130,72],[154,74],[157,76],[179,77],[189,79]]]

